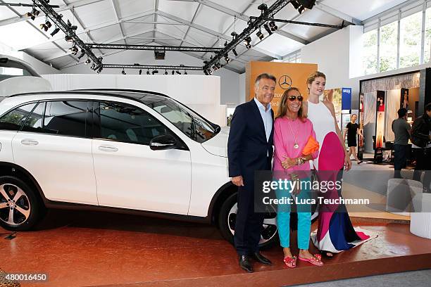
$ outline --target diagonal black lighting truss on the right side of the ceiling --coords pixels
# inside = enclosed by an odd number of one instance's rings
[[[241,34],[237,34],[232,41],[225,46],[221,51],[218,51],[218,53],[215,53],[215,56],[208,61],[205,61],[204,65],[204,71],[210,70],[215,63],[218,63],[224,56],[231,51],[232,49],[235,49],[235,47],[244,41],[246,37],[249,37],[250,34],[252,34],[254,31],[260,29],[260,27],[268,22],[269,19],[273,18],[278,11],[280,11],[282,8],[284,8],[287,4],[290,3],[290,0],[277,0],[274,2],[273,5],[266,8],[265,10],[261,11],[261,15],[254,20],[250,19],[249,26],[247,26]]]

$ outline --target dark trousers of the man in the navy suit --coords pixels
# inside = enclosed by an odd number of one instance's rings
[[[266,170],[270,170],[270,158]],[[251,185],[251,186],[250,186]],[[234,243],[238,255],[250,255],[259,250],[265,213],[255,212],[254,182],[238,188],[238,211]]]

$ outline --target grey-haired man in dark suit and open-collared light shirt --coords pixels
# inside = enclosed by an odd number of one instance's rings
[[[253,272],[249,256],[263,264],[271,264],[258,249],[263,213],[254,209],[254,172],[271,170],[274,113],[270,102],[274,98],[275,82],[273,75],[258,75],[255,97],[235,109],[227,141],[229,176],[238,186],[235,248],[239,265],[246,272]]]

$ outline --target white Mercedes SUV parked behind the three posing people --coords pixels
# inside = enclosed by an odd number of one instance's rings
[[[232,242],[228,132],[150,91],[8,96],[0,103],[0,224],[23,231],[46,208],[97,209],[213,223]],[[262,247],[276,234],[268,212]]]

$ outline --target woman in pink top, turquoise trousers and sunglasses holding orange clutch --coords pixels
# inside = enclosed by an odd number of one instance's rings
[[[290,208],[293,202],[296,202],[298,211],[298,258],[318,266],[323,265],[320,255],[311,255],[308,251],[311,229],[311,180],[308,161],[318,156],[318,143],[313,124],[304,117],[302,101],[299,89],[287,89],[274,122],[274,178],[287,179],[292,183],[279,186],[275,191],[277,199],[284,200],[277,205],[277,227],[285,253],[284,262],[291,268],[296,267],[296,256],[292,255],[289,248]]]

